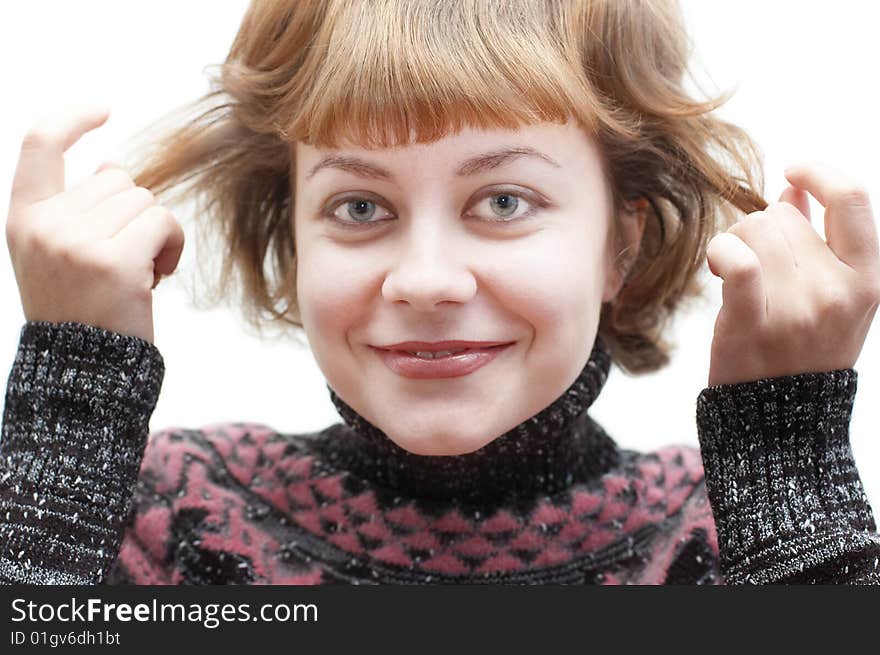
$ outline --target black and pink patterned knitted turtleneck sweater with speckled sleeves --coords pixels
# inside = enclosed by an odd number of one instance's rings
[[[849,446],[852,369],[704,389],[700,449],[618,447],[588,414],[610,357],[466,455],[343,422],[148,424],[140,339],[26,323],[0,440],[11,583],[880,583]]]

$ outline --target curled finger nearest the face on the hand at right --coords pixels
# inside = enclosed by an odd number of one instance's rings
[[[767,313],[761,263],[739,237],[722,232],[712,237],[706,250],[709,270],[720,277],[722,303],[744,321],[762,321]]]

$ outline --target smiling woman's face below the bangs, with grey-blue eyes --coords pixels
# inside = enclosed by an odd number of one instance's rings
[[[291,154],[306,335],[329,385],[395,443],[476,450],[576,379],[619,286],[586,132],[543,123]],[[509,345],[407,352],[467,345],[446,340]],[[433,345],[386,350],[406,341]]]

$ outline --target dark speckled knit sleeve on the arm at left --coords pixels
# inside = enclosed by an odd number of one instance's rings
[[[0,582],[104,581],[164,371],[156,347],[136,337],[24,325],[0,439]]]

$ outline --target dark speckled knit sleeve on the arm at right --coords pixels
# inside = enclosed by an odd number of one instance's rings
[[[853,369],[716,385],[697,399],[728,584],[880,584],[849,441]]]

